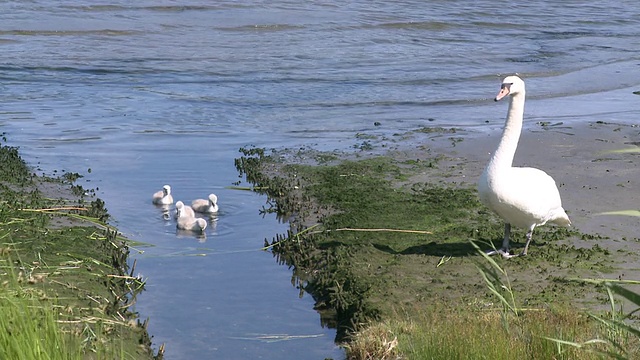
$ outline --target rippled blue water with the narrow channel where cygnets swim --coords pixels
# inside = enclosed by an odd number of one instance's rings
[[[225,188],[238,148],[491,131],[505,109],[490,100],[514,72],[529,124],[640,111],[633,1],[134,4],[0,2],[0,132],[43,172],[86,175],[114,224],[153,245],[134,254],[148,279],[136,310],[167,359],[343,357],[291,271],[258,250],[287,224]],[[218,194],[205,239],[150,204],[165,183],[176,199]]]

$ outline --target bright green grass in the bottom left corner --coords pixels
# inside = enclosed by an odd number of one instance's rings
[[[40,276],[26,276],[13,263],[6,253],[0,261],[5,271],[0,278],[1,359],[139,358],[127,352],[126,340],[110,337],[113,321],[72,319],[74,310],[66,301],[32,286],[42,280]],[[135,323],[122,326],[135,327]]]

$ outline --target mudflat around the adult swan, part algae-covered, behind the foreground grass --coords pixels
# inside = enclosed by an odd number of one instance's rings
[[[291,217],[291,232],[265,245],[294,269],[338,341],[400,313],[499,307],[472,244],[502,241],[502,221],[475,189],[499,134],[465,135],[398,134],[369,141],[369,153],[242,149],[238,169]],[[632,205],[638,153],[617,150],[637,140],[636,127],[616,124],[527,129],[514,165],[552,174],[575,226],[537,228],[528,256],[495,259],[520,306],[602,309],[606,292],[575,279],[638,278],[637,219],[598,215]],[[521,229],[512,239],[524,246]]]

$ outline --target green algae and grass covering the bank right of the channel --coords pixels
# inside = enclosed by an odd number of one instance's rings
[[[575,228],[536,229],[530,256],[496,259],[497,288],[520,310],[508,331],[504,304],[479,271],[491,266],[473,246],[499,247],[504,225],[473,183],[451,181],[440,166],[447,155],[241,152],[240,173],[291,219],[291,231],[265,246],[314,296],[350,358],[599,358],[545,337],[606,338],[585,315],[608,306],[606,290],[575,279],[615,279],[619,259],[636,261],[635,253]],[[371,332],[369,344],[386,350],[359,352]],[[634,339],[624,345],[637,351]]]

